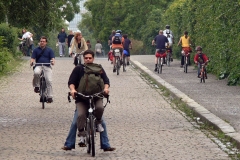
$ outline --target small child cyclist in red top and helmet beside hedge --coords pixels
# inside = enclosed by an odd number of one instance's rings
[[[200,78],[200,67],[201,67],[201,64],[205,63],[207,65],[209,59],[208,57],[206,56],[206,54],[202,53],[202,47],[201,46],[197,46],[195,48],[195,50],[197,51],[197,54],[194,56],[194,63],[198,65],[198,78]],[[206,68],[205,68],[205,73],[206,72]],[[207,75],[205,75],[206,79],[207,79]]]

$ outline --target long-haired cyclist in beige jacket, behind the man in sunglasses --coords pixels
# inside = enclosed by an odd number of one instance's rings
[[[74,35],[74,38],[72,40],[72,45],[70,48],[70,54],[73,55],[73,53],[75,52],[77,53],[81,53],[82,51],[86,51],[88,49],[87,43],[85,41],[85,39],[82,37],[82,33],[80,32],[76,32]],[[79,55],[81,58],[81,55]],[[78,61],[77,61],[77,56],[74,57],[74,65],[77,66],[78,65]]]

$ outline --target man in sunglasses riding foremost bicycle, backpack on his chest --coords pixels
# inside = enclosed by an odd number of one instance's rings
[[[83,58],[84,58],[84,65],[79,65],[76,66],[70,77],[69,77],[69,81],[68,81],[68,86],[70,88],[70,93],[71,96],[76,100],[76,108],[77,108],[77,112],[78,112],[78,118],[77,118],[77,127],[78,127],[78,131],[79,131],[79,136],[80,136],[80,144],[84,144],[84,137],[85,132],[84,132],[84,127],[85,127],[85,122],[86,122],[86,118],[87,118],[87,106],[88,106],[88,100],[86,99],[82,99],[75,96],[75,94],[77,92],[81,92],[81,93],[85,93],[85,91],[82,91],[82,89],[88,89],[88,90],[94,90],[94,92],[96,91],[96,87],[92,87],[90,86],[91,84],[93,85],[93,81],[95,82],[95,77],[98,78],[100,76],[101,81],[98,81],[98,83],[96,85],[101,86],[101,88],[99,88],[100,91],[98,92],[104,92],[106,95],[108,95],[109,93],[109,79],[106,75],[106,72],[104,71],[104,69],[101,67],[101,65],[95,64],[93,63],[94,61],[94,52],[92,50],[86,50],[83,53]],[[100,66],[101,70],[99,72],[99,74],[87,74],[85,73],[86,68],[88,67],[93,67],[93,68],[97,68],[98,66]],[[87,75],[86,75],[87,74]],[[86,77],[87,76],[87,77]],[[86,83],[85,83],[86,82]],[[101,83],[101,84],[100,84]],[[82,84],[86,84],[84,87],[82,87]],[[95,93],[92,93],[95,94]],[[104,129],[102,127],[102,115],[104,112],[104,106],[103,106],[103,100],[101,98],[95,99],[94,100],[95,103],[95,117],[96,117],[96,123],[97,123],[97,129],[99,132],[103,132]]]

